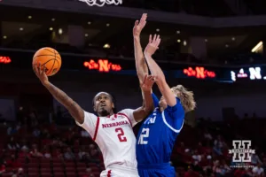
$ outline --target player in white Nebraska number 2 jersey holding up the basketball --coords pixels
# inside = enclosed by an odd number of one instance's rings
[[[136,160],[136,137],[132,127],[153,112],[151,89],[154,77],[145,76],[141,84],[144,96],[143,106],[136,110],[125,109],[113,113],[113,97],[106,92],[99,92],[93,100],[94,111],[98,116],[82,110],[69,96],[48,81],[40,64],[34,64],[34,71],[43,86],[51,95],[63,104],[75,119],[98,143],[103,153],[106,170],[101,177],[138,177]]]

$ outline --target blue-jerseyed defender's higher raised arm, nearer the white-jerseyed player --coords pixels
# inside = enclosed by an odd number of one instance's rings
[[[148,74],[148,66],[146,65],[145,56],[140,43],[140,34],[142,29],[145,27],[146,19],[147,14],[144,13],[140,20],[136,20],[135,26],[133,27],[135,63],[137,77],[140,83],[144,81],[145,74]]]

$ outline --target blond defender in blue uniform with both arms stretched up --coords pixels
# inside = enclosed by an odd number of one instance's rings
[[[161,93],[160,101],[153,94],[155,109],[142,123],[137,135],[137,164],[140,177],[175,177],[174,167],[169,164],[176,136],[184,125],[185,112],[192,111],[196,104],[193,93],[182,85],[170,89],[164,73],[152,56],[160,44],[160,36],[150,36],[142,53],[139,35],[145,27],[146,14],[138,23],[136,21],[133,34],[135,43],[135,58],[139,81],[143,81],[148,68],[156,76],[156,84]],[[138,29],[138,33],[136,33]],[[136,36],[136,34],[138,36]],[[145,59],[149,67],[145,64]]]

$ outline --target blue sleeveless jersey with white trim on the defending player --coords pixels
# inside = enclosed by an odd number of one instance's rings
[[[163,164],[170,161],[176,136],[184,125],[184,108],[179,98],[176,105],[160,112],[159,100],[153,94],[155,109],[145,119],[137,135],[137,164]]]

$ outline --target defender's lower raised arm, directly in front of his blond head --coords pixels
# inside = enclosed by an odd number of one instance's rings
[[[169,106],[176,105],[176,96],[173,94],[165,80],[165,75],[161,71],[160,66],[156,64],[152,56],[158,49],[160,44],[160,35],[150,35],[149,43],[145,48],[145,58],[151,73],[156,77],[156,83],[160,89],[161,95],[165,98]]]

